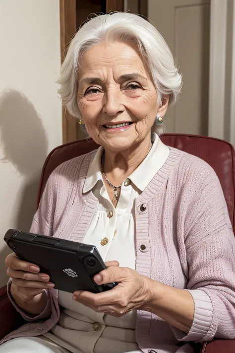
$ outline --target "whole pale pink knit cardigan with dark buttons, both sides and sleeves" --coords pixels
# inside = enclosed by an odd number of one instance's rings
[[[31,232],[82,241],[98,207],[92,192],[82,192],[94,153],[71,159],[51,174]],[[189,341],[235,339],[235,237],[214,170],[203,160],[170,147],[166,162],[136,199],[135,224],[136,271],[188,290],[195,304],[187,335],[139,310],[136,340],[140,349],[191,353]],[[58,322],[58,291],[47,290],[47,295],[47,306],[38,316],[22,312],[11,298],[29,323],[1,343],[41,335]]]

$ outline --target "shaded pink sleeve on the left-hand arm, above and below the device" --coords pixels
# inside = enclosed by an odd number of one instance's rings
[[[53,235],[53,205],[55,204],[55,196],[56,196],[56,191],[55,191],[55,176],[54,173],[51,174],[46,188],[44,190],[38,211],[36,212],[33,222],[30,228],[31,233],[35,234],[40,234],[40,235],[47,235],[47,236],[52,236]],[[13,306],[15,309],[21,314],[21,316],[28,322],[34,322],[39,319],[44,319],[48,318],[50,319],[50,316],[53,312],[53,315],[55,316],[57,310],[54,304],[54,299],[53,299],[53,290],[52,289],[46,289],[45,292],[47,294],[47,305],[43,312],[41,312],[39,315],[31,315],[29,313],[26,313],[23,311],[14,301],[10,294],[10,285],[11,285],[11,280],[7,283],[7,293],[10,298],[10,301],[12,302]],[[56,314],[58,315],[58,314]]]

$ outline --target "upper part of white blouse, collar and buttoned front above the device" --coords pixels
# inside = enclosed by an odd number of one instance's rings
[[[122,183],[116,208],[103,182],[102,154],[101,146],[90,163],[83,187],[84,193],[92,190],[99,200],[98,210],[83,243],[95,245],[104,261],[117,260],[121,267],[135,269],[135,198],[142,193],[161,168],[169,155],[169,147],[155,134],[154,143],[147,157]],[[110,214],[113,216],[109,218]]]

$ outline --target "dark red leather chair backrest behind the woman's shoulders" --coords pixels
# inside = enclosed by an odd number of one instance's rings
[[[230,219],[235,226],[235,150],[231,143],[210,137],[165,134],[162,141],[205,160],[218,175],[227,202]],[[61,163],[98,148],[91,139],[65,143],[48,155],[42,170],[38,201],[52,171]]]

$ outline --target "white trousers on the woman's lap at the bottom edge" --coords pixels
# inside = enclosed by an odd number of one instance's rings
[[[140,353],[132,351],[126,353]],[[0,353],[69,353],[46,337],[19,337],[0,346]]]

